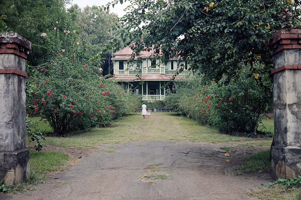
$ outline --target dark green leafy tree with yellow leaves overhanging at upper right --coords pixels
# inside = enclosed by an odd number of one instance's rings
[[[116,0],[109,5],[123,3]],[[265,39],[281,28],[300,27],[300,1],[132,0],[122,18],[119,41],[134,43],[135,54],[154,45],[154,56],[189,60],[209,79],[234,75],[238,63],[260,57],[270,63]],[[106,7],[104,9],[107,9]],[[142,39],[141,39],[142,38]],[[116,42],[113,42],[115,44]]]

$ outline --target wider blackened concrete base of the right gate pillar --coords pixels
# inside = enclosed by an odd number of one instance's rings
[[[297,146],[272,146],[273,179],[294,178],[301,174],[301,148]]]

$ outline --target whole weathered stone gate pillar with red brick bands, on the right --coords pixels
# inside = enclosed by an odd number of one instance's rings
[[[268,42],[273,56],[274,179],[301,175],[301,29],[280,30]]]

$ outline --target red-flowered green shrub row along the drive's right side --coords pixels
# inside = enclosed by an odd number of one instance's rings
[[[242,67],[230,81],[224,76],[209,84],[202,75],[195,76],[176,83],[176,93],[166,98],[166,104],[203,125],[225,132],[256,133],[262,116],[272,109],[270,70],[257,62]]]

